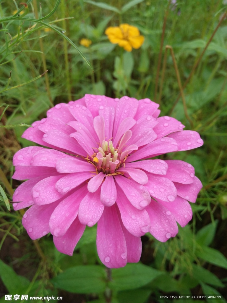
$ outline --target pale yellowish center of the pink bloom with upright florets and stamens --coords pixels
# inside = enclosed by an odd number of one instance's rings
[[[114,174],[120,166],[120,154],[113,147],[113,142],[103,141],[101,147],[98,148],[98,153],[92,156],[92,162],[97,168],[97,172],[103,171],[106,174]]]

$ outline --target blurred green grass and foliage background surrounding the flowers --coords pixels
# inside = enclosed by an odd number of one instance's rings
[[[222,295],[198,302],[226,302],[227,1],[27,4],[0,1],[0,302],[5,294],[59,295],[61,302],[79,303]],[[105,29],[122,23],[140,30],[141,48],[126,52],[109,42]],[[80,45],[82,38],[92,44]],[[32,241],[21,225],[22,211],[6,206],[20,184],[11,179],[12,157],[32,144],[21,139],[23,124],[84,94],[150,98],[161,115],[180,120],[204,140],[199,149],[167,155],[191,163],[203,183],[192,221],[166,243],[143,236],[140,263],[113,269],[111,278],[97,256],[95,226],[86,228],[69,257],[56,250],[51,235]]]

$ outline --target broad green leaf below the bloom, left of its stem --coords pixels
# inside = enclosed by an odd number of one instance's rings
[[[51,281],[55,287],[73,293],[103,292],[106,272],[98,265],[75,266],[65,270]]]

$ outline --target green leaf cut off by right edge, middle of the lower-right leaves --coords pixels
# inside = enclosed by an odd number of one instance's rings
[[[214,248],[201,246],[196,248],[197,257],[220,267],[227,269],[227,259],[222,253]]]

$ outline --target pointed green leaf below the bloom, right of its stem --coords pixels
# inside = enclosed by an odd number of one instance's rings
[[[161,274],[161,271],[149,266],[140,263],[128,263],[123,268],[113,268],[112,281],[110,281],[109,287],[117,291],[135,289],[150,283]]]

